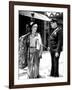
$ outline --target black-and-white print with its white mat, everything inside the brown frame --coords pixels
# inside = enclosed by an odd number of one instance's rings
[[[16,4],[13,13],[14,85],[69,83],[67,7]]]

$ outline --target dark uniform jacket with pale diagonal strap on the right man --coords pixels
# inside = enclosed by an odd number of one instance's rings
[[[57,27],[49,37],[49,47],[50,50],[60,52],[63,47],[63,29]]]

